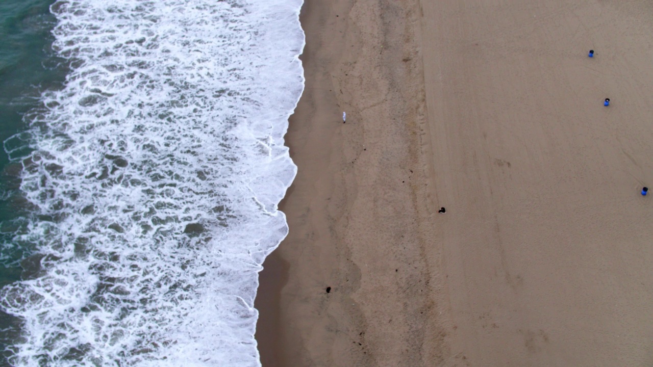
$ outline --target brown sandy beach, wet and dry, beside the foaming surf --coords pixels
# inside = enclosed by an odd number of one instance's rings
[[[306,0],[302,25],[264,367],[653,364],[652,3]]]

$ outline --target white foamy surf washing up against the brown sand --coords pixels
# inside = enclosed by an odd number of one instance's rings
[[[260,365],[302,2],[32,0],[45,77],[2,101],[25,101],[2,121],[5,364]]]

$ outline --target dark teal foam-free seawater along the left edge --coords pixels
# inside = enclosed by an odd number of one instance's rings
[[[26,129],[24,114],[39,106],[40,91],[57,88],[65,76],[65,68],[52,57],[50,34],[55,19],[49,7],[53,0],[0,1],[0,141]],[[0,150],[0,240],[2,241],[0,287],[20,279],[18,263],[25,248],[12,244],[20,228],[22,208],[16,195],[20,166],[11,164],[7,153]],[[0,351],[16,338],[18,322],[0,313]],[[0,366],[7,366],[6,355],[0,355]]]

